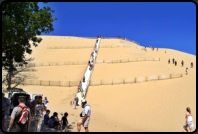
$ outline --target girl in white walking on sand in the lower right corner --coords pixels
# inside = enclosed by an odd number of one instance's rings
[[[191,110],[189,107],[186,108],[186,122],[183,126],[184,130],[186,130],[188,132],[188,129],[187,127],[189,127],[190,129],[190,132],[192,132],[192,128],[194,127],[194,124],[193,124],[193,119],[192,119],[192,114],[191,114]]]

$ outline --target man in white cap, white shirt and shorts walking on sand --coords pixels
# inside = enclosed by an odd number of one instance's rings
[[[82,108],[83,108],[82,118],[77,123],[77,129],[78,129],[78,132],[80,132],[80,126],[83,125],[85,128],[85,132],[89,132],[88,124],[89,124],[90,115],[91,115],[91,107],[89,104],[87,104],[87,101],[85,99],[82,100]]]

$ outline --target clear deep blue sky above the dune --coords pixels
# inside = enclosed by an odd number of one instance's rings
[[[54,36],[120,36],[196,55],[196,5],[192,2],[39,2],[53,13]]]

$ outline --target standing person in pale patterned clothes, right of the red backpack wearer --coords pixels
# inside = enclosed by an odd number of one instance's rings
[[[38,99],[37,105],[35,106],[35,114],[34,114],[34,132],[40,132],[41,130],[41,124],[43,120],[43,111],[44,111],[44,105],[42,104],[42,98]]]

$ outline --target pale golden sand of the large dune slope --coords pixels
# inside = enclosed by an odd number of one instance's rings
[[[63,46],[76,45],[78,40],[83,41],[82,45],[95,45],[96,39],[62,39],[61,37],[44,36],[43,59],[50,61],[49,55],[45,55],[47,45],[53,46],[60,44]],[[81,42],[80,41],[80,42]],[[60,43],[58,43],[60,42]],[[65,43],[65,44],[64,44]],[[135,45],[131,42],[118,39],[101,39],[101,46],[105,45]],[[78,44],[80,46],[80,43]],[[42,49],[42,48],[41,48]],[[37,49],[40,51],[39,49]],[[87,51],[86,51],[87,50]],[[50,50],[51,51],[51,50]],[[52,50],[52,57],[61,57],[58,55],[58,49]],[[55,52],[56,51],[56,52]],[[64,50],[60,49],[60,53]],[[69,50],[68,50],[69,51]],[[88,49],[82,49],[88,53]],[[91,55],[91,49],[87,55],[87,60]],[[166,53],[165,53],[166,51]],[[36,52],[35,56],[39,52]],[[81,54],[81,52],[79,52]],[[45,60],[46,57],[46,60]],[[76,57],[81,57],[76,53]],[[91,120],[89,130],[91,132],[183,132],[185,123],[186,107],[192,111],[194,128],[196,129],[196,56],[180,52],[177,50],[159,48],[158,51],[152,51],[147,48],[147,52],[134,48],[99,48],[97,60],[104,59],[126,59],[126,58],[160,58],[160,61],[142,61],[117,64],[95,64],[91,80],[100,79],[122,79],[138,76],[152,76],[169,73],[183,73],[182,78],[150,81],[134,84],[120,85],[102,85],[90,86],[86,100],[91,105]],[[86,58],[86,56],[84,57]],[[82,60],[84,60],[84,58]],[[171,64],[168,64],[168,59]],[[175,58],[177,66],[172,64],[172,58]],[[68,57],[68,61],[70,58]],[[75,59],[72,59],[75,60]],[[86,60],[86,59],[85,59]],[[181,61],[184,60],[184,67],[181,67]],[[39,61],[39,60],[38,60]],[[39,61],[39,62],[42,62]],[[60,62],[63,61],[62,59]],[[190,68],[190,63],[194,67]],[[35,73],[39,79],[77,80],[83,77],[84,65],[58,66],[58,67],[39,67]],[[185,68],[188,67],[189,73],[185,74]],[[82,69],[81,69],[82,68]],[[39,73],[40,72],[40,73]],[[43,72],[43,73],[42,73]],[[51,73],[51,74],[48,74]],[[40,74],[40,75],[39,75]],[[45,75],[46,76],[43,76]],[[82,75],[82,76],[80,76]],[[53,78],[54,76],[54,78]],[[70,101],[76,95],[76,87],[49,87],[49,86],[18,86],[29,93],[43,94],[49,100],[48,109],[53,112],[68,112],[69,124],[72,125],[70,131],[76,132],[76,124],[80,120],[79,114],[81,107],[73,109]],[[60,117],[60,116],[59,116]],[[72,124],[75,122],[75,124]],[[84,129],[81,127],[81,131]]]

